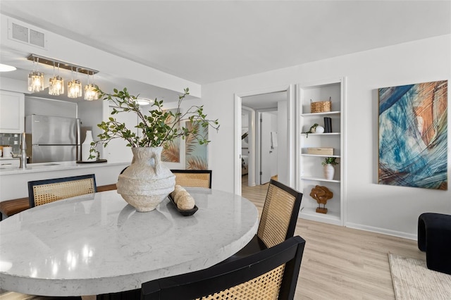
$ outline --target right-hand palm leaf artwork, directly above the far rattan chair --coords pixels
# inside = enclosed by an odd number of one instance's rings
[[[187,170],[207,170],[206,144],[200,144],[196,135],[202,135],[205,139],[208,139],[208,128],[190,122],[187,122],[185,126],[192,132],[190,135],[187,135],[185,142],[185,168]]]

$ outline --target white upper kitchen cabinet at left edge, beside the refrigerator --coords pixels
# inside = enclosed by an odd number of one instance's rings
[[[0,90],[0,132],[21,133],[25,127],[25,96]]]

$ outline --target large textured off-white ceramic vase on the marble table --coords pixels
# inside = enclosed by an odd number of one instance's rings
[[[119,175],[118,194],[137,211],[153,211],[175,187],[175,175],[161,163],[163,147],[132,148],[132,164]]]

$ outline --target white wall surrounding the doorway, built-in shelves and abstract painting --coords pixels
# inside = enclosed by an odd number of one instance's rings
[[[444,35],[202,86],[206,112],[221,123],[211,135],[211,167],[221,174],[214,188],[233,191],[235,93],[346,76],[345,225],[415,239],[420,213],[451,213],[451,190],[378,185],[377,89],[450,80],[450,66],[451,35]],[[451,178],[449,152],[447,161]]]

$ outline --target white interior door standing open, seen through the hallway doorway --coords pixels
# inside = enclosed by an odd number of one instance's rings
[[[271,114],[260,113],[260,185],[271,180]]]

